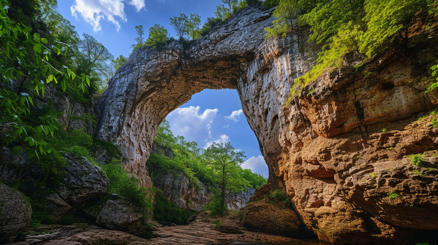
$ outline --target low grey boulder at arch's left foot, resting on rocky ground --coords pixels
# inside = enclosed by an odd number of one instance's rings
[[[144,209],[127,200],[110,200],[97,215],[96,223],[107,228],[138,235],[141,232],[141,218]]]

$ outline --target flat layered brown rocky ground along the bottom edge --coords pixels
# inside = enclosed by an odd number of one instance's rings
[[[213,223],[212,223],[213,222]],[[240,215],[225,217],[202,212],[188,225],[155,224],[151,239],[143,239],[123,231],[106,230],[89,224],[39,225],[28,227],[8,245],[219,245],[232,242],[321,244],[279,235],[248,231],[240,224]]]

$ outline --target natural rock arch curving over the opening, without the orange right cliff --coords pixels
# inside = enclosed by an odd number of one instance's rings
[[[246,9],[189,49],[177,41],[143,47],[117,70],[98,104],[97,137],[117,142],[130,159],[124,167],[144,186],[151,185],[145,165],[159,124],[206,88],[237,90],[272,173],[281,152],[280,105],[296,77],[291,71],[303,67],[290,63],[290,56],[299,56],[295,36],[265,40],[263,28],[272,23],[271,15],[272,10]]]

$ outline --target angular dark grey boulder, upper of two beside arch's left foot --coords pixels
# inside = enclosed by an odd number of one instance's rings
[[[57,190],[62,199],[77,205],[106,193],[109,181],[101,168],[84,157],[65,155],[65,158],[69,161],[70,166],[67,168],[64,182]]]

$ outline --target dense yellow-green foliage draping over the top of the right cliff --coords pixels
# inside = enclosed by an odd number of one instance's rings
[[[286,35],[297,21],[310,26],[309,41],[322,45],[317,64],[295,79],[293,97],[325,71],[340,67],[346,53],[368,59],[389,48],[408,48],[410,26],[436,15],[437,6],[435,0],[280,0],[274,11],[278,19],[266,31],[267,37]],[[292,15],[295,20],[287,18]]]

